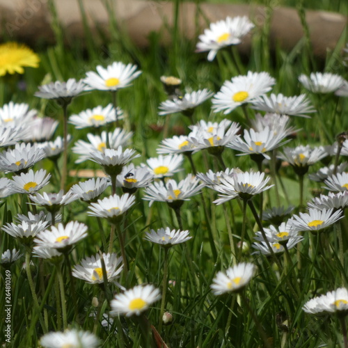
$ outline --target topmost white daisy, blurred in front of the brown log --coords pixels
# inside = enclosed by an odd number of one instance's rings
[[[209,29],[199,35],[200,42],[197,43],[196,52],[209,51],[208,61],[212,61],[219,49],[238,45],[253,27],[254,24],[246,16],[226,17],[225,20],[211,23]]]

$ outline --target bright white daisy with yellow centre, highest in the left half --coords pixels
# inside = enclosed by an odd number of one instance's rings
[[[89,71],[84,79],[88,85],[88,90],[113,90],[130,86],[130,83],[139,77],[141,71],[136,71],[138,67],[132,64],[113,62],[106,68],[97,65],[97,72]]]

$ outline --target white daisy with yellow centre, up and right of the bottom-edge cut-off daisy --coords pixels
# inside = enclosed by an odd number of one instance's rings
[[[110,303],[110,314],[113,317],[116,315],[125,315],[126,317],[134,314],[140,315],[159,299],[161,299],[159,289],[153,285],[137,285],[122,294],[116,294]]]

